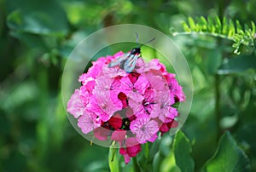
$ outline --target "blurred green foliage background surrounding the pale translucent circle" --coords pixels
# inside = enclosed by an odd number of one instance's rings
[[[247,33],[255,43],[254,26],[245,26],[256,22],[255,8],[251,0],[0,0],[0,171],[109,171],[108,149],[90,146],[73,129],[61,101],[67,57],[90,33],[136,23],[172,37],[172,28],[183,31],[187,20],[191,29],[197,23],[192,19],[218,16],[218,25],[229,24],[230,30],[238,28],[230,20],[239,21],[242,37],[234,31],[235,43]],[[255,49],[239,44],[236,55],[232,41],[214,35],[172,38],[193,75],[193,106],[185,135],[165,135],[143,147],[148,151],[138,164],[154,171],[255,171]],[[132,163],[120,165],[132,169]]]

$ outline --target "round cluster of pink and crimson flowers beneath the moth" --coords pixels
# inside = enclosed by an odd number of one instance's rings
[[[87,73],[79,77],[82,86],[67,103],[67,112],[78,118],[84,134],[90,132],[98,140],[115,140],[119,153],[129,163],[142,150],[141,144],[154,142],[177,127],[177,109],[184,101],[182,87],[175,75],[166,71],[159,60],[137,60],[133,72],[108,63],[123,52],[92,62]]]

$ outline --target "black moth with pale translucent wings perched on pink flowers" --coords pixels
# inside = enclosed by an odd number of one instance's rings
[[[136,36],[137,36],[137,44],[138,44],[138,35],[136,33]],[[150,43],[152,41],[154,41],[155,37],[152,38],[151,40],[149,40],[148,42],[146,43]],[[143,43],[143,44],[146,44],[146,43]],[[127,73],[131,73],[133,71],[133,69],[135,68],[136,66],[136,63],[137,63],[137,59],[139,57],[141,57],[141,47],[143,46],[143,44],[141,46],[137,46],[137,48],[133,48],[131,49],[130,52],[128,53],[125,53],[124,55],[121,55],[120,57],[118,57],[117,59],[111,61],[109,64],[108,64],[108,67],[113,67],[113,66],[118,66],[125,70],[125,72]]]

